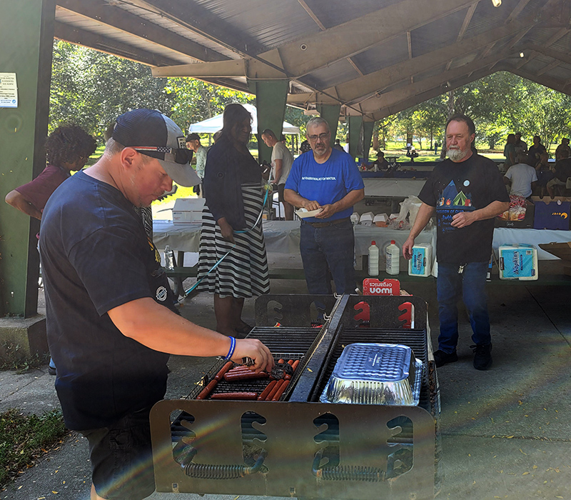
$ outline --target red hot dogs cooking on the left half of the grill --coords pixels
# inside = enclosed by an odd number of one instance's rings
[[[288,364],[292,368],[292,372],[295,372],[299,364],[299,359],[290,359]],[[278,364],[283,364],[285,361],[283,359],[278,360]],[[220,392],[216,394],[211,394],[214,388],[218,385],[218,382],[225,380],[227,382],[237,382],[237,381],[249,381],[258,379],[273,379],[273,377],[266,371],[261,371],[256,373],[248,368],[248,366],[234,365],[232,361],[228,361],[220,371],[214,376],[214,378],[208,383],[208,385],[201,391],[196,399],[206,399],[210,396],[210,399],[233,399],[241,401],[278,401],[281,395],[287,389],[290,381],[291,375],[284,374],[281,380],[271,380],[266,389],[264,389],[260,394],[257,392]]]

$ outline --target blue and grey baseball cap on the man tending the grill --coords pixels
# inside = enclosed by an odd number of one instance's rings
[[[118,117],[111,137],[123,146],[158,159],[168,176],[181,186],[201,180],[191,167],[183,131],[168,116],[154,109],[133,109]]]

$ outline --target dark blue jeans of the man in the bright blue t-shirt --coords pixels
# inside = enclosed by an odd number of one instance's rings
[[[299,249],[310,294],[333,293],[329,270],[338,294],[350,294],[355,290],[355,236],[349,219],[326,227],[302,223]]]

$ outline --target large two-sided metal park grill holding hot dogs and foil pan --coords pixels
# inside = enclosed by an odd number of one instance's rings
[[[326,310],[320,327],[310,326],[316,301]],[[403,319],[407,308],[413,314]],[[220,360],[186,399],[153,406],[157,491],[306,500],[423,500],[440,491],[440,394],[425,301],[266,295],[249,336],[293,374],[226,380],[225,370],[245,368]],[[255,400],[216,400],[228,393]]]

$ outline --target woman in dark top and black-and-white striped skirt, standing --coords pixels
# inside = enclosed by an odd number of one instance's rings
[[[244,299],[270,290],[258,221],[263,208],[261,169],[248,151],[251,119],[240,104],[226,106],[221,137],[208,151],[204,171],[206,205],[198,259],[198,279],[203,281],[198,291],[214,294],[216,330],[231,336],[251,330],[242,320]]]

